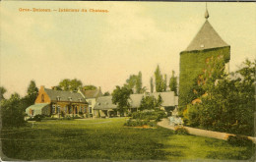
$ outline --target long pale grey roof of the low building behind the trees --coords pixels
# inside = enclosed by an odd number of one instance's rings
[[[174,96],[173,91],[168,92],[156,92],[150,93],[148,95],[154,95],[155,98],[159,98],[159,95],[162,98],[161,106],[168,107],[168,106],[175,106],[178,104],[177,96]],[[131,108],[138,108],[141,105],[141,100],[144,94],[131,94],[130,95],[130,104]],[[96,100],[95,110],[107,110],[107,109],[116,109],[117,105],[112,103],[112,96],[101,96],[98,97]]]

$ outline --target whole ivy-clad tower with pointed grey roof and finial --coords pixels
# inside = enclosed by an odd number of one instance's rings
[[[180,52],[180,74],[179,74],[179,110],[183,111],[191,102],[191,88],[194,81],[212,57],[224,58],[225,72],[228,73],[228,62],[230,60],[230,46],[224,42],[222,37],[209,23],[209,13],[206,9],[205,23],[200,28],[188,47]]]

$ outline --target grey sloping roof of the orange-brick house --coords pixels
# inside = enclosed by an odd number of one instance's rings
[[[53,90],[44,88],[44,91],[48,94],[52,101],[57,101],[57,97],[60,97],[60,101],[69,101],[70,97],[72,102],[87,102],[82,94],[71,91]],[[80,100],[81,99],[81,100]]]

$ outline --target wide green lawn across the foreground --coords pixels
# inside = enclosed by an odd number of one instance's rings
[[[183,160],[249,159],[252,147],[172,131],[123,127],[124,118],[43,121],[1,132],[3,153],[10,158]],[[30,127],[29,127],[30,126]]]

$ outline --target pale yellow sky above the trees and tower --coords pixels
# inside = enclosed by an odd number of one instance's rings
[[[19,12],[20,8],[103,9],[108,13]],[[101,86],[102,92],[157,65],[169,79],[179,53],[205,22],[201,2],[1,2],[0,84],[25,95],[30,81],[51,87],[63,79]],[[208,3],[209,22],[231,46],[230,71],[255,59],[256,4]]]

